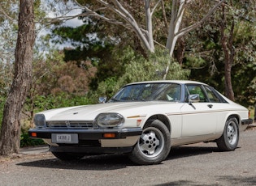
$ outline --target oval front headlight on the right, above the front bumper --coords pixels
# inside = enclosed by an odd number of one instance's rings
[[[118,113],[101,113],[95,118],[100,127],[116,127],[124,124],[124,116]]]

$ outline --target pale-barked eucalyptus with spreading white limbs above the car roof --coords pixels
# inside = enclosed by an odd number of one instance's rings
[[[213,15],[218,7],[223,4],[224,0],[207,1],[203,4],[207,11],[197,22],[182,27],[184,14],[189,10],[193,3],[197,4],[197,0],[144,0],[144,1],[124,1],[124,0],[73,0],[80,6],[82,13],[72,16],[60,16],[59,20],[73,19],[74,17],[93,17],[102,19],[108,23],[122,26],[128,32],[134,33],[140,40],[142,48],[148,55],[155,52],[155,46],[160,45],[166,49],[167,54],[172,58],[177,40],[193,31],[202,23]],[[141,8],[143,7],[143,8]],[[138,10],[138,11],[137,11]],[[155,17],[159,16],[163,22],[157,21]],[[159,24],[162,27],[158,27]],[[159,31],[160,30],[160,31]],[[167,32],[165,41],[156,40],[159,38],[159,32]],[[168,61],[163,74],[163,78],[167,77],[171,58]]]

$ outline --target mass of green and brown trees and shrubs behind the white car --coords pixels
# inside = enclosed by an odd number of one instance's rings
[[[77,2],[83,10],[86,1]],[[119,24],[86,14],[76,16],[76,20],[81,22],[76,27],[63,24],[62,17],[59,20],[47,18],[46,11],[59,15],[59,7],[65,10],[77,6],[77,2],[63,1],[58,7],[48,2],[51,6],[46,7],[42,6],[43,1],[35,1],[37,32],[42,27],[50,28],[51,32],[38,37],[34,47],[33,79],[22,111],[20,146],[42,143],[28,138],[28,129],[33,127],[36,112],[97,104],[98,97],[110,98],[124,84],[136,81],[165,78],[206,82],[249,108],[251,117],[254,117],[255,1],[226,1],[227,6],[219,6],[206,22],[176,38],[173,53],[165,43],[171,20],[171,2],[177,1],[160,1],[162,6],[154,10],[152,20],[157,29],[152,32],[154,40],[148,49],[145,49],[140,37],[134,31],[127,30],[128,25],[122,25],[118,15],[113,15],[111,11],[106,11],[105,15]],[[123,4],[137,19],[138,25],[148,20],[142,16],[145,14],[142,2]],[[199,22],[215,5],[209,1],[192,2],[184,9],[181,28]],[[14,72],[17,12],[11,9],[13,3],[10,0],[0,2],[0,120]],[[99,1],[90,1],[91,8],[98,6]],[[68,46],[60,48],[60,44]],[[230,82],[227,82],[228,75]]]

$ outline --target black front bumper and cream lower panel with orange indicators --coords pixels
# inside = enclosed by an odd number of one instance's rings
[[[31,138],[41,138],[50,146],[58,146],[62,148],[80,147],[80,149],[99,149],[105,148],[119,148],[132,147],[137,143],[141,136],[142,129],[124,128],[124,129],[29,129],[28,134]],[[55,142],[55,134],[76,134],[78,141],[72,143]],[[114,134],[114,135],[107,135]],[[69,146],[69,147],[67,147]],[[83,150],[84,151],[84,150]],[[97,150],[96,150],[97,151]]]

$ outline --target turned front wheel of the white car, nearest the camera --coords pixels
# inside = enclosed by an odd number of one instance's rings
[[[149,120],[129,158],[140,165],[161,163],[171,150],[171,135],[160,120]]]

